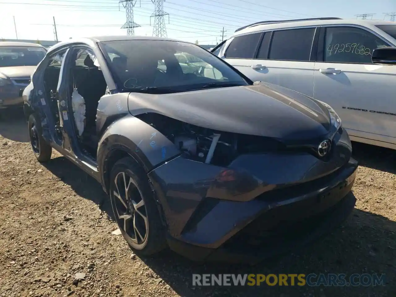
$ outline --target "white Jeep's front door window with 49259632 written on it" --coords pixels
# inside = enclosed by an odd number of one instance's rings
[[[323,61],[371,64],[373,50],[384,46],[388,44],[364,29],[328,27],[325,34]]]

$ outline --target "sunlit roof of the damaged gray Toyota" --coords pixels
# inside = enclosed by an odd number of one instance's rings
[[[97,42],[107,42],[107,41],[121,41],[121,40],[166,40],[166,41],[177,41],[177,42],[185,42],[182,40],[176,40],[167,37],[152,37],[152,36],[128,36],[128,35],[110,35],[110,36],[92,36],[92,37],[84,37],[84,38],[72,38],[69,40],[65,40],[51,46],[48,49],[48,52],[55,51],[58,48],[67,46],[68,44],[88,44],[91,47],[94,47]],[[186,42],[190,43],[190,42]]]

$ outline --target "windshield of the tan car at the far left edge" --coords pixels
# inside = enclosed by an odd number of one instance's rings
[[[37,66],[45,55],[42,47],[0,46],[0,67]]]

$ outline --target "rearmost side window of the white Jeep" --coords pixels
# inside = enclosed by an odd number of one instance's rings
[[[236,36],[225,53],[227,58],[252,59],[261,33]]]

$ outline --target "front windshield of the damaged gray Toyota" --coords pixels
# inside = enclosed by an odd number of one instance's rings
[[[119,40],[99,45],[121,91],[174,93],[251,84],[209,51],[187,42]]]

